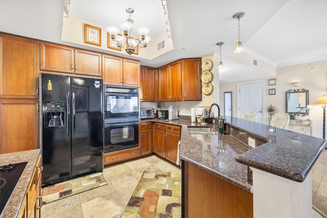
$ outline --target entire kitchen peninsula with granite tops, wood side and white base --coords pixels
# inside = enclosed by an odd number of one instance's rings
[[[227,117],[227,135],[190,134],[198,124],[185,120],[153,121],[181,126],[185,217],[310,216],[311,168],[324,139],[236,117]]]

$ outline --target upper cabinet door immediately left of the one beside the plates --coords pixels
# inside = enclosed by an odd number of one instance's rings
[[[181,61],[169,64],[169,101],[182,101]]]

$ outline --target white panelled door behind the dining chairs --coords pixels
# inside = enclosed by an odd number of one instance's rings
[[[239,111],[238,117],[245,111],[256,114],[255,122],[263,123],[264,120],[264,81],[245,82],[238,84]]]

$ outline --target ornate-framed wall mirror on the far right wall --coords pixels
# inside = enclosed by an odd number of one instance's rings
[[[290,118],[295,116],[308,115],[307,105],[309,104],[309,90],[306,89],[290,89],[285,95],[286,113],[289,113]]]

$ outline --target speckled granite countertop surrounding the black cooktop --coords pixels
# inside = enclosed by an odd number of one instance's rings
[[[40,149],[14,152],[8,154],[0,154],[0,165],[8,165],[9,163],[28,162],[24,172],[21,174],[14,191],[12,192],[7,205],[0,214],[0,218],[16,217],[22,201],[24,200],[29,182],[36,165]]]

